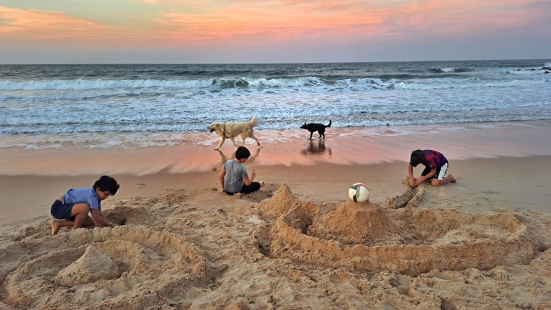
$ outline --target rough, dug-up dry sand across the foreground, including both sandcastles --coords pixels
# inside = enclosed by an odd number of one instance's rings
[[[113,200],[105,213],[115,228],[52,237],[42,218],[0,237],[0,307],[551,306],[550,216],[426,209],[430,198],[416,199],[398,209],[315,203],[268,184],[242,198],[205,188]]]

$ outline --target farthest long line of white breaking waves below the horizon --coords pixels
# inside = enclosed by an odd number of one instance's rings
[[[192,80],[40,80],[40,81],[0,81],[0,90],[4,91],[55,91],[55,90],[225,90],[251,88],[259,90],[296,89],[305,90],[309,88],[324,90],[395,90],[395,89],[448,89],[448,88],[480,88],[500,87],[511,85],[543,85],[548,84],[545,80],[505,80],[505,81],[484,81],[475,78],[461,76],[439,76],[431,81],[430,77],[424,76],[415,80],[404,76],[404,74],[385,74],[380,78],[355,78],[339,79],[335,81],[324,80],[318,77],[307,76],[297,78],[277,79],[192,79]],[[460,82],[460,83],[459,83]]]

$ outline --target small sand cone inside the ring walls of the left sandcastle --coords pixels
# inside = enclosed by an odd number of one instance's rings
[[[81,258],[59,271],[54,282],[60,285],[83,285],[97,280],[111,280],[120,275],[116,263],[90,245]]]

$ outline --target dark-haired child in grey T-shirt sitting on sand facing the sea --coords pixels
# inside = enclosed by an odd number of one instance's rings
[[[256,172],[253,170],[251,178],[247,174],[247,167],[243,165],[247,159],[251,156],[249,149],[244,146],[240,146],[236,150],[236,158],[229,159],[222,166],[218,180],[222,186],[222,191],[228,195],[236,193],[249,194],[258,191],[260,187],[264,186],[264,181],[253,182]]]

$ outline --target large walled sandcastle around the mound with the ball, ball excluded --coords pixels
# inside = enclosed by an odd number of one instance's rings
[[[287,210],[284,201],[292,202]],[[509,214],[391,209],[350,200],[320,214],[319,207],[298,200],[287,185],[260,209],[267,216],[282,214],[271,230],[269,256],[326,267],[415,276],[432,269],[521,264],[537,254],[526,226]]]

